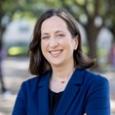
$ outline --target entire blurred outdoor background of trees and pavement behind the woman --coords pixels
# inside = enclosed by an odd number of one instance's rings
[[[97,64],[93,71],[110,82],[115,115],[115,0],[0,0],[0,115],[10,115],[28,72],[28,46],[40,14],[65,8],[79,22],[83,51]]]

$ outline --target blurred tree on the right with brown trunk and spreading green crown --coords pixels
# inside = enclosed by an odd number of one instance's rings
[[[61,1],[61,0],[60,0]],[[114,17],[111,5],[114,0],[62,0],[62,5],[67,8],[85,28],[87,33],[88,55],[97,58],[97,35],[103,26],[107,26]],[[115,11],[115,10],[114,10]],[[108,18],[108,16],[111,16]],[[98,66],[98,64],[97,64]]]

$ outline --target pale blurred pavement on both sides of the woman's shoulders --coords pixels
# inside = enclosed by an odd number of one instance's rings
[[[30,77],[27,58],[8,58],[3,62],[5,83],[12,94],[0,94],[0,115],[11,115],[17,91],[22,81]],[[115,115],[115,73],[104,74],[110,81],[112,115]]]

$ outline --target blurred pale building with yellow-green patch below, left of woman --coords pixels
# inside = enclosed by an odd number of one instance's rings
[[[8,55],[24,55],[32,38],[34,24],[27,20],[11,22],[3,36],[4,48]]]

